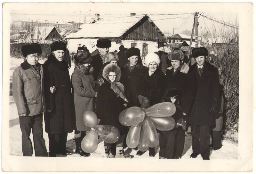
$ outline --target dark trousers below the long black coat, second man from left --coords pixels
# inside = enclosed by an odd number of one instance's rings
[[[66,151],[68,133],[48,134],[49,137],[49,155],[56,155]]]

